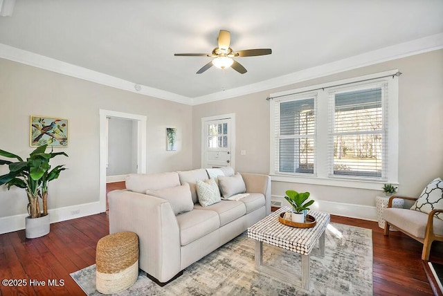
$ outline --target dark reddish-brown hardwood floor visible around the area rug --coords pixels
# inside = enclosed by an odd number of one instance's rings
[[[331,221],[372,229],[374,295],[433,295],[421,243],[399,232],[384,237],[377,222],[341,216]],[[38,239],[26,239],[24,230],[0,234],[0,279],[15,280],[10,283],[15,286],[1,284],[0,295],[84,295],[69,274],[95,263],[96,244],[108,233],[108,216],[102,213],[53,223]],[[443,243],[433,243],[430,259],[443,261]],[[52,286],[48,280],[55,280]]]

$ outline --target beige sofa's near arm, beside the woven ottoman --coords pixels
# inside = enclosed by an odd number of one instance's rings
[[[174,211],[162,198],[114,190],[109,192],[109,233],[138,235],[139,266],[161,282],[180,272],[180,230]]]

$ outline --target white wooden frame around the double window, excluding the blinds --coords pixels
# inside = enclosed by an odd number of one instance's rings
[[[338,80],[324,84],[307,86],[300,89],[291,89],[280,93],[271,93],[270,108],[270,172],[272,181],[282,181],[289,183],[307,183],[315,185],[329,185],[338,187],[353,187],[364,189],[381,189],[383,183],[398,184],[398,77],[395,76],[398,70],[374,73],[359,77],[352,77],[346,80]],[[383,77],[388,76],[389,77]],[[392,75],[392,77],[391,77]],[[382,78],[379,78],[382,77]],[[330,176],[330,157],[328,155],[329,145],[329,92],[334,89],[344,88],[352,89],[360,86],[375,84],[377,82],[386,82],[387,95],[383,98],[383,124],[386,133],[386,166],[383,167],[382,178],[355,178],[350,176]],[[343,84],[349,84],[343,87]],[[351,85],[352,84],[352,85]],[[296,94],[294,94],[296,93]],[[316,138],[314,149],[314,174],[285,173],[278,172],[275,167],[275,157],[278,157],[275,148],[275,104],[291,100],[295,97],[306,97],[316,93],[315,112],[316,112]],[[280,97],[280,98],[278,98]],[[333,160],[332,160],[333,162]],[[333,164],[332,164],[333,165]]]

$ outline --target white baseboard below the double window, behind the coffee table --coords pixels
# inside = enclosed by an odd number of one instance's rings
[[[273,206],[289,205],[283,196],[272,196],[271,203]],[[327,212],[337,216],[345,216],[356,219],[363,219],[369,221],[377,220],[377,209],[370,205],[356,205],[354,203],[337,203],[336,201],[319,201],[311,205],[311,210],[320,212]]]

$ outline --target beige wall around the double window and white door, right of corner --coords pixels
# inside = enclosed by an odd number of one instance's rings
[[[200,167],[201,118],[236,114],[236,170],[269,173],[270,93],[302,86],[334,82],[350,77],[398,68],[399,77],[399,193],[417,196],[438,176],[443,177],[443,50],[415,55],[352,71],[321,77],[279,89],[195,106],[192,115],[193,167]],[[246,150],[246,156],[240,150]],[[297,183],[272,183],[272,194],[284,196],[287,189],[309,191],[314,199],[359,205],[374,205],[379,191]]]

